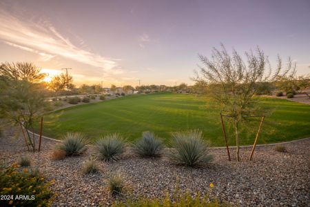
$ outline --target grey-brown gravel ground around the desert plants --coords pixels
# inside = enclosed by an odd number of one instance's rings
[[[0,157],[8,163],[22,155],[32,159],[48,179],[58,196],[54,206],[103,206],[114,200],[107,191],[106,179],[121,172],[127,181],[123,197],[164,196],[174,192],[177,177],[183,191],[200,190],[240,206],[310,206],[310,139],[285,144],[288,152],[276,152],[274,146],[256,149],[253,161],[247,161],[250,148],[241,149],[241,162],[227,161],[225,149],[212,149],[214,161],[205,168],[187,168],[170,164],[165,158],[142,159],[127,152],[114,163],[100,162],[101,171],[83,175],[82,163],[93,149],[81,157],[61,161],[50,159],[54,141],[43,139],[41,152],[27,152],[21,137],[13,139],[13,131],[0,138]],[[232,152],[234,155],[234,151]]]

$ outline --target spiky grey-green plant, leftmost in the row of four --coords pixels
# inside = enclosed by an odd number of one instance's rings
[[[86,139],[81,133],[68,132],[59,149],[64,150],[66,156],[81,155],[86,150]]]

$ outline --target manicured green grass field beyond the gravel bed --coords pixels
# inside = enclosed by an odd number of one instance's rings
[[[262,104],[271,106],[273,113],[266,118],[258,144],[310,137],[309,105],[270,98],[262,98]],[[150,130],[169,145],[171,132],[200,129],[212,146],[225,144],[219,110],[212,101],[194,95],[132,95],[67,108],[46,115],[45,120],[43,134],[56,139],[66,132],[83,132],[94,141],[106,133],[119,132],[133,141],[141,132]],[[243,126],[242,145],[253,144],[258,125],[256,120]],[[226,127],[229,143],[234,145],[231,127],[228,123]]]

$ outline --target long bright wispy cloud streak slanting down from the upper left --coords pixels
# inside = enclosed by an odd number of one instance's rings
[[[60,56],[114,73],[113,69],[117,65],[114,59],[75,46],[48,21],[21,20],[0,8],[0,22],[1,41],[21,50],[37,53],[43,61]],[[119,74],[120,70],[116,73]]]

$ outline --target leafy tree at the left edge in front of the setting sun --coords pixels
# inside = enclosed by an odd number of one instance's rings
[[[21,75],[22,74],[22,75]],[[0,114],[6,123],[25,128],[26,144],[35,151],[34,124],[45,112],[45,89],[39,83],[45,75],[32,63],[4,63],[0,66]]]

